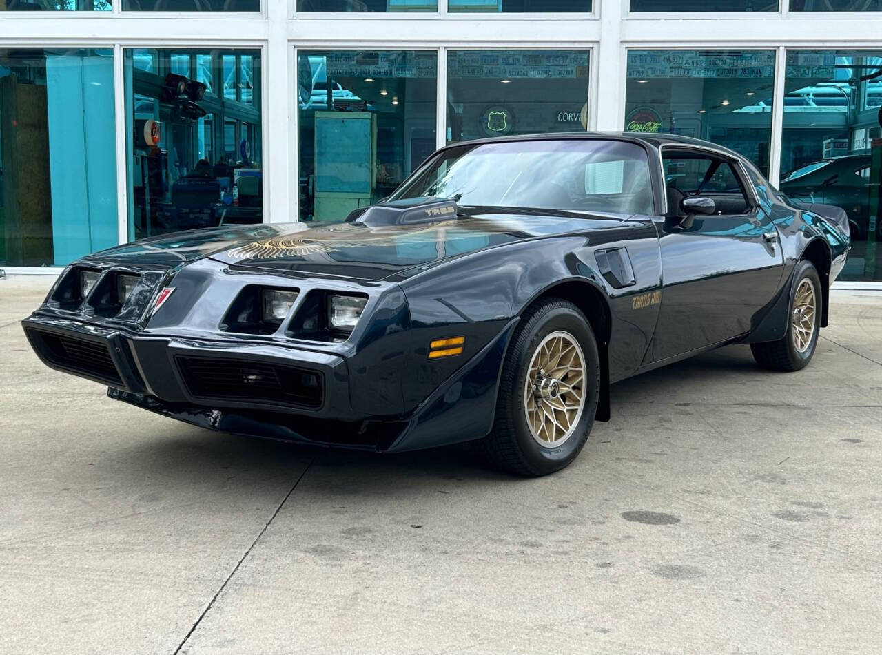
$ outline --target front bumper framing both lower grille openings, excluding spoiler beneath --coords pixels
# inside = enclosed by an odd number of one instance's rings
[[[50,368],[167,404],[367,418],[349,402],[348,362],[337,354],[265,342],[140,336],[39,315],[22,325]]]

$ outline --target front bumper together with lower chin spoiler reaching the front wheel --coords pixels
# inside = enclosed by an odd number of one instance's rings
[[[385,412],[383,406],[374,406],[371,413],[356,411],[350,398],[350,362],[339,354],[265,342],[145,336],[39,313],[22,322],[43,363],[107,384],[110,398],[223,432],[381,451],[417,450],[486,435],[492,427],[500,364],[516,323],[507,322],[413,412],[402,415]],[[235,393],[243,395],[219,397],[194,388],[186,371],[186,362],[192,360],[222,362],[215,376],[242,377],[245,386]],[[250,392],[248,376],[279,369],[314,376],[318,396],[310,402],[303,402],[303,394],[293,399],[261,396],[265,387],[257,383]]]

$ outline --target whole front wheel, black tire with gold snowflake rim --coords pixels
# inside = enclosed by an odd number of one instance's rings
[[[511,473],[559,471],[585,445],[599,393],[597,342],[586,317],[572,302],[539,301],[512,336],[493,431],[479,450]]]

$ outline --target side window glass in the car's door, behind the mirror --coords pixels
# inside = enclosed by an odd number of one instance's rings
[[[714,200],[717,215],[750,211],[751,201],[728,161],[700,153],[662,150],[662,164],[669,206],[681,196],[705,196]]]

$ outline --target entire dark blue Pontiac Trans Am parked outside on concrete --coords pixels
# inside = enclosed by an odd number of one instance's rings
[[[568,465],[609,385],[727,344],[803,368],[848,217],[662,134],[449,145],[339,223],[166,234],[71,264],[24,320],[49,367],[181,421]]]

